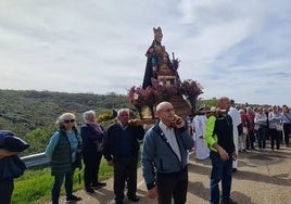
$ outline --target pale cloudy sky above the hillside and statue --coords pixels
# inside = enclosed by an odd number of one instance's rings
[[[202,99],[291,104],[290,0],[1,0],[0,89],[126,94],[157,26]]]

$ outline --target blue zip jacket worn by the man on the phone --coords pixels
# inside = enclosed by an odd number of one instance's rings
[[[188,150],[194,145],[187,128],[174,129],[180,150],[181,162],[167,143],[159,124],[153,126],[144,136],[141,153],[141,168],[148,189],[155,186],[156,173],[178,173],[188,165]]]

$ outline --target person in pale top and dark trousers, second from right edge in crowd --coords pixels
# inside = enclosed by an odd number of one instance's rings
[[[275,142],[276,142],[276,150],[280,149],[280,135],[282,129],[280,129],[282,115],[278,112],[278,107],[273,105],[271,112],[269,113],[269,135],[270,135],[270,148],[275,150]]]

